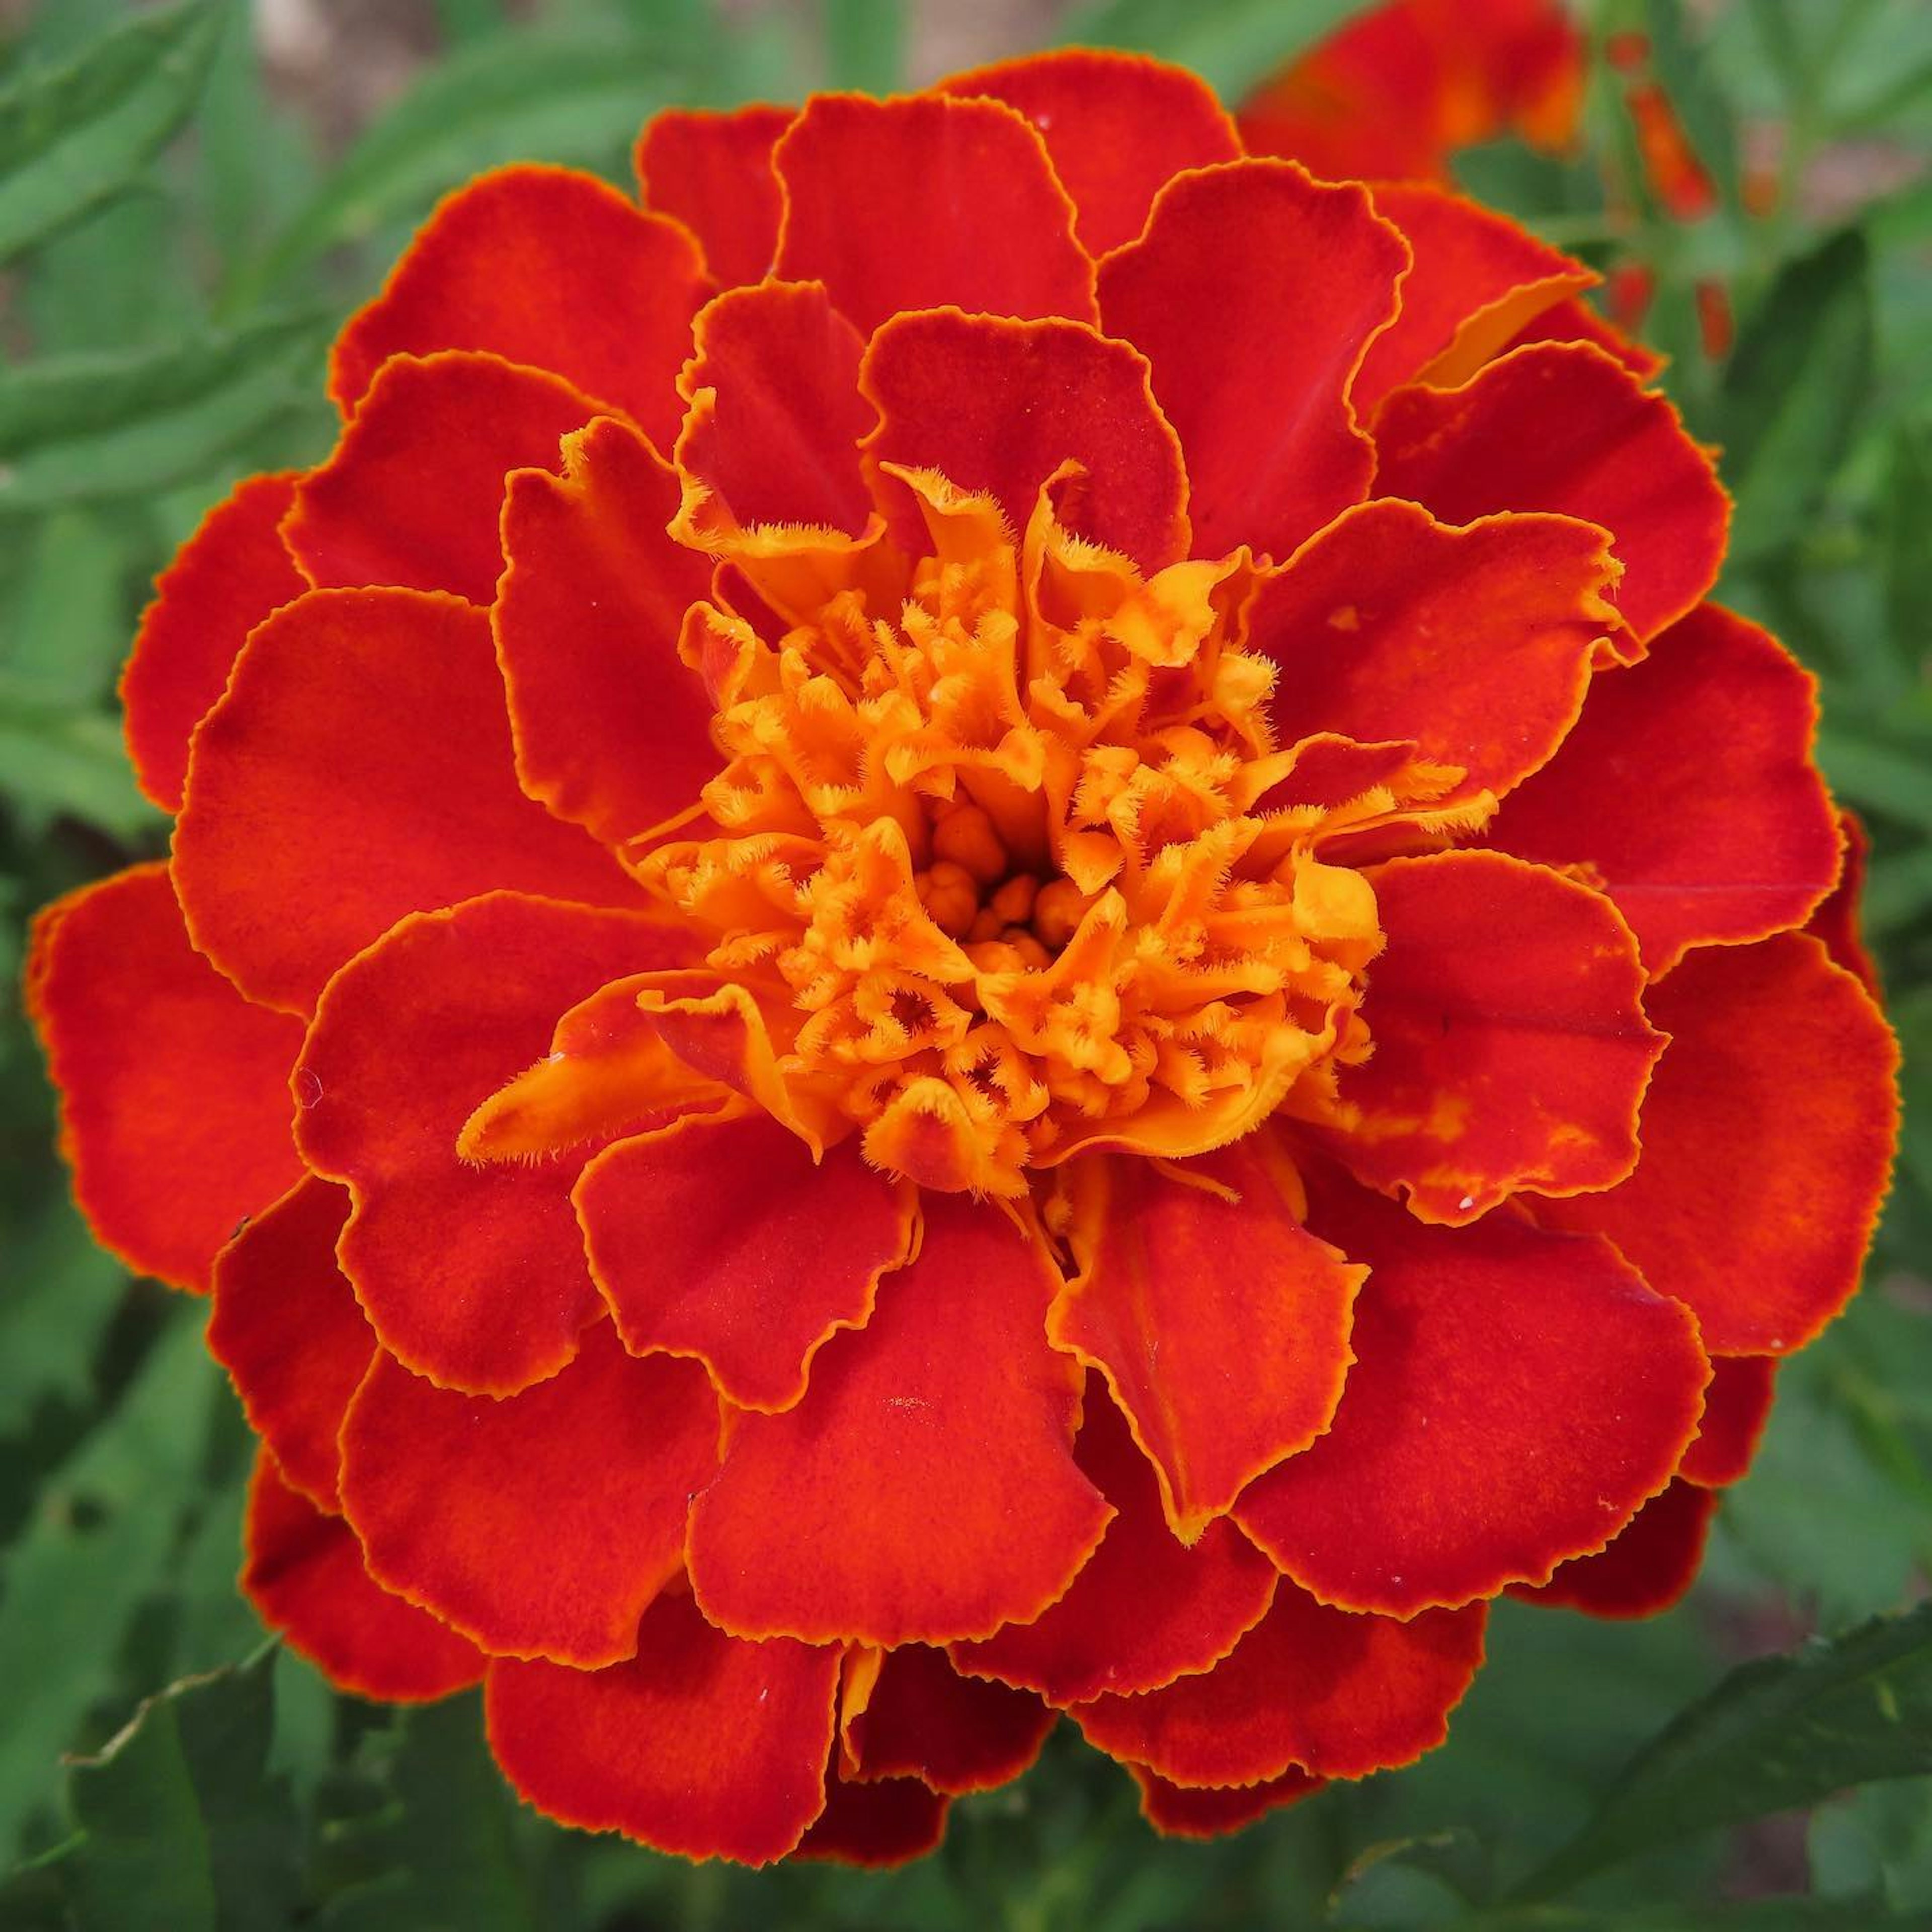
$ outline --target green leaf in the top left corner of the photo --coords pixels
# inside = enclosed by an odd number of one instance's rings
[[[187,120],[220,31],[214,0],[182,0],[0,93],[0,257],[133,180]]]

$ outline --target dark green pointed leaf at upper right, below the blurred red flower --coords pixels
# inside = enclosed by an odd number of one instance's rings
[[[1739,334],[1718,413],[1739,558],[1801,535],[1851,448],[1872,379],[1868,270],[1845,230],[1787,263]]]

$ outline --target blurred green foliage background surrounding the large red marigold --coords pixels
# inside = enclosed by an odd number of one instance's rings
[[[1347,12],[1057,19],[1235,99]],[[520,156],[624,180],[661,106],[891,87],[906,50],[889,0],[437,15],[439,60],[328,164],[265,91],[243,0],[43,0],[0,39],[0,985],[37,904],[162,850],[112,701],[149,582],[236,477],[327,452],[328,332],[435,195]],[[1719,211],[1687,226],[1650,201],[1602,64],[1584,155],[1505,141],[1464,180],[1602,267],[1654,270],[1665,381],[1739,498],[1721,595],[1822,678],[1907,1043],[1870,1283],[1785,1372],[1690,1602],[1644,1625],[1499,1605],[1447,1748],[1221,1845],[1157,1841],[1065,1739],[900,1874],[688,1868],[560,1832],[506,1797],[471,1700],[398,1718],[263,1644],[234,1588],[247,1432],[201,1310],[89,1242],[8,993],[0,1926],[1932,1926],[1932,1607],[1911,1609],[1932,1563],[1932,8],[1598,0],[1588,23],[1652,37]],[[1741,205],[1747,124],[1783,129],[1797,193],[1772,216]],[[1861,156],[1903,185],[1855,184],[1826,216],[1812,189]],[[1700,280],[1741,321],[1719,361]]]

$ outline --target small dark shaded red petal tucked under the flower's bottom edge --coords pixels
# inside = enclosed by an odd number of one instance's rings
[[[991,1791],[1039,1756],[1057,1721],[1059,1712],[1026,1690],[960,1677],[943,1650],[900,1644],[885,1652],[864,1706],[842,1725],[848,1776],[918,1777],[951,1797]]]

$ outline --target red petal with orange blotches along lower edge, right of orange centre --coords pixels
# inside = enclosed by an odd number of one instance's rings
[[[1368,877],[1389,939],[1362,1001],[1376,1053],[1343,1072],[1347,1113],[1318,1138],[1451,1225],[1520,1188],[1623,1179],[1663,1036],[1617,908],[1501,852],[1399,858]]]

